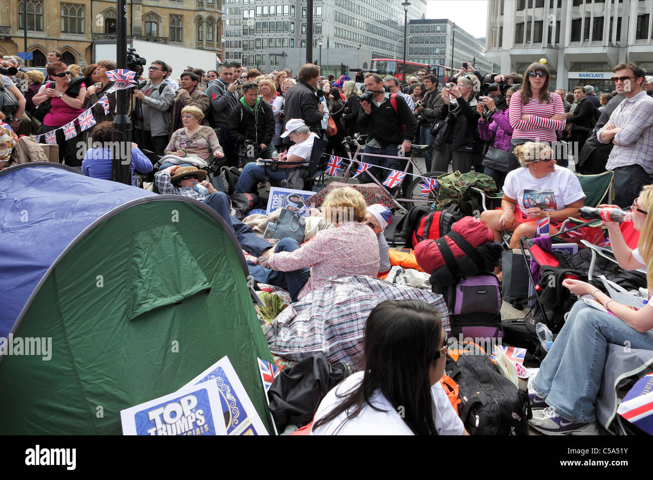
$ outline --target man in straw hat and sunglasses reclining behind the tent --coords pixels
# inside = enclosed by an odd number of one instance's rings
[[[206,170],[172,165],[156,172],[154,183],[161,195],[183,195],[213,208],[236,234],[242,249],[254,257],[261,257],[264,251],[272,248],[270,242],[259,238],[245,223],[231,215],[231,200],[227,194],[216,191],[204,178],[206,178]],[[208,193],[199,191],[203,190],[201,188],[195,189],[195,185],[202,185]]]

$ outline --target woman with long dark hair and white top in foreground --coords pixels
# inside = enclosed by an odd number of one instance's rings
[[[381,302],[365,324],[364,349],[364,370],[328,392],[311,434],[468,434],[439,383],[447,343],[434,306]]]

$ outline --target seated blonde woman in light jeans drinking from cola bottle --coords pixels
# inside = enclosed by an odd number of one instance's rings
[[[646,268],[649,297],[653,293],[653,216],[648,216],[652,208],[653,185],[646,185],[631,207],[633,227],[641,232],[634,250],[626,245],[618,223],[603,222],[619,266],[624,270]],[[547,435],[597,435],[594,402],[608,344],[653,350],[653,304],[648,302],[633,310],[590,283],[563,280],[562,285],[575,295],[593,296],[610,313],[583,300],[573,306],[537,376],[528,385],[534,408],[529,423]]]

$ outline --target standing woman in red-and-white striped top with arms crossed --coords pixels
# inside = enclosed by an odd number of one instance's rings
[[[556,142],[556,130],[565,129],[565,108],[560,95],[549,93],[549,69],[535,62],[526,69],[522,88],[511,99],[509,121],[513,127],[508,170],[519,167],[513,150],[526,142]]]

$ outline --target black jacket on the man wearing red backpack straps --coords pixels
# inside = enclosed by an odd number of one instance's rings
[[[374,101],[370,103],[371,115],[368,115],[364,108],[360,108],[358,125],[366,129],[370,138],[375,138],[381,146],[389,144],[400,144],[404,141],[413,142],[417,132],[417,120],[415,115],[408,108],[408,104],[401,97],[396,96],[397,110],[394,111],[390,102],[389,93],[381,106],[376,106]]]

